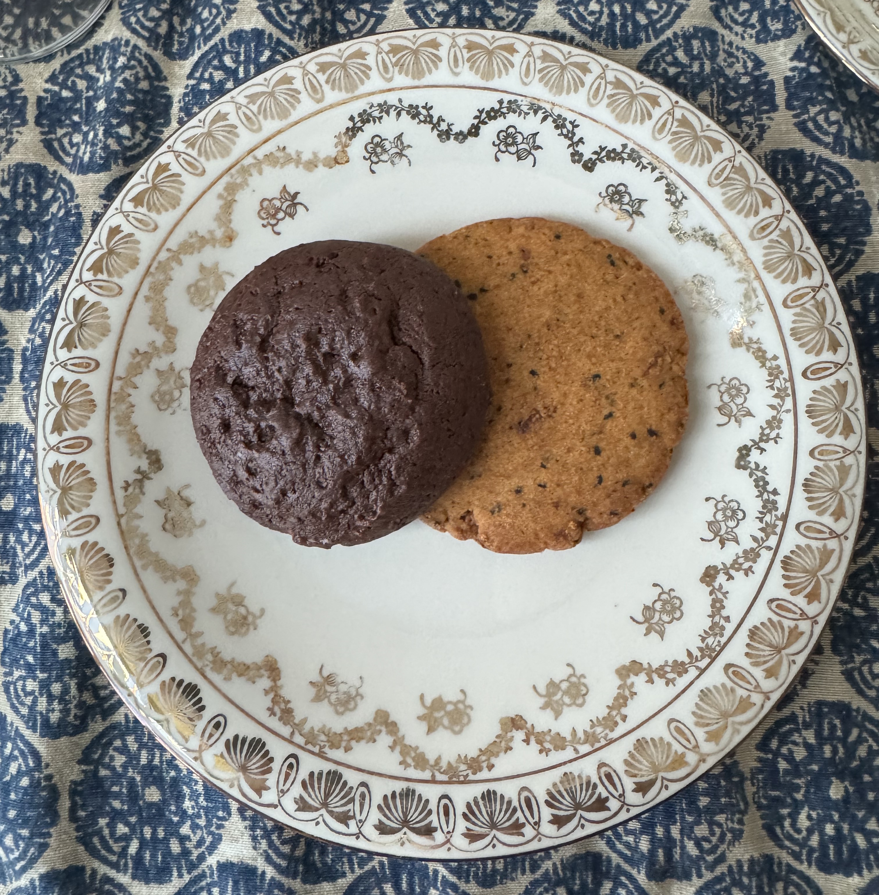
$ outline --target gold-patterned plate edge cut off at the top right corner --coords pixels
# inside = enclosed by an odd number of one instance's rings
[[[879,90],[879,0],[795,0],[843,64]]]

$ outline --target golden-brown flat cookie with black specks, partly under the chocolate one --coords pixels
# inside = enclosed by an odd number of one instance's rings
[[[687,333],[662,280],[630,251],[537,217],[462,227],[418,254],[473,303],[493,393],[480,446],[425,521],[536,553],[628,516],[687,422]]]

